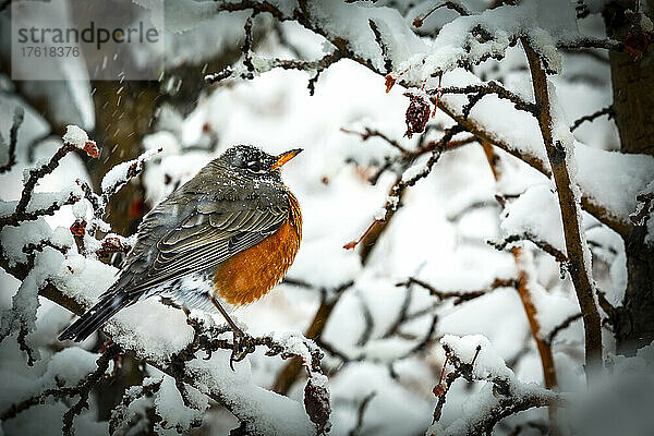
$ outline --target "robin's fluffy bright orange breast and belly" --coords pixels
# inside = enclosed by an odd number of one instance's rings
[[[252,303],[277,284],[290,268],[302,239],[298,199],[289,193],[289,219],[271,235],[225,261],[214,275],[214,289],[232,305]]]

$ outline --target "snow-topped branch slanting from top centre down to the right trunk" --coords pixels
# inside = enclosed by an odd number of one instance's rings
[[[429,84],[435,77],[446,73],[443,77],[444,89],[474,89],[473,98],[465,105],[465,100],[462,100],[460,96],[443,95],[441,98],[437,98],[434,95],[431,98],[433,104],[437,104],[438,108],[451,117],[455,122],[477,138],[508,152],[544,174],[550,175],[549,162],[545,154],[541,152],[542,142],[531,144],[532,140],[525,141],[523,135],[512,135],[507,132],[508,128],[502,125],[502,121],[509,120],[502,120],[501,117],[496,114],[492,119],[483,117],[482,113],[485,112],[497,112],[497,100],[487,98],[488,101],[482,105],[484,101],[480,99],[488,93],[495,96],[499,93],[500,97],[504,96],[502,98],[517,104],[523,110],[531,111],[533,104],[525,101],[514,93],[495,89],[495,85],[480,83],[473,74],[463,73],[460,70],[452,71],[461,62],[476,64],[488,57],[501,57],[509,46],[518,43],[519,38],[530,41],[540,59],[547,63],[547,71],[557,71],[560,66],[560,57],[556,52],[557,45],[589,40],[597,43],[594,38],[580,34],[564,32],[559,35],[549,35],[543,28],[534,27],[533,20],[543,13],[541,8],[550,7],[529,1],[521,5],[505,5],[481,14],[463,15],[448,23],[431,45],[420,40],[397,11],[386,8],[366,8],[359,4],[338,4],[338,2],[335,4],[325,2],[324,5],[320,5],[311,1],[300,1],[294,8],[284,10],[270,2],[245,0],[221,3],[218,10],[252,11],[255,14],[270,13],[281,22],[296,21],[307,31],[325,37],[337,47],[343,58],[358,62],[383,76],[386,75],[384,59],[387,57],[393,65],[390,86],[396,82],[409,89],[421,89],[427,85],[427,92],[436,94],[435,87],[431,87]],[[349,17],[348,32],[336,32],[332,28],[331,17],[337,14]],[[377,14],[379,17],[376,16]],[[378,37],[373,31],[368,34],[360,32],[361,28],[370,29],[368,20],[371,19],[375,22],[383,40],[392,40],[390,37],[385,37],[384,34],[387,32],[395,35],[393,44],[387,43],[386,55],[382,53],[383,50],[379,49],[377,43]],[[529,36],[524,37],[524,35]],[[275,64],[275,60],[262,60],[262,62],[266,65]],[[315,64],[304,64],[303,61],[293,63],[293,68],[295,66],[310,72],[316,69]],[[261,72],[267,70],[264,69]],[[488,107],[487,105],[495,105],[494,109],[482,111],[481,106]],[[473,106],[477,109],[475,110]],[[513,113],[507,113],[507,116],[513,120],[513,125],[533,124],[533,121],[523,120]],[[532,117],[531,113],[524,116]],[[537,129],[535,125],[534,128]],[[586,161],[580,160],[578,165],[581,168],[586,165]],[[590,173],[591,169],[588,170],[584,168],[580,172]],[[584,182],[584,180],[579,181],[583,208],[621,235],[628,235],[631,226],[628,214],[625,214],[619,205],[607,203],[601,193],[595,192],[592,189],[592,180],[589,180],[589,183]]]

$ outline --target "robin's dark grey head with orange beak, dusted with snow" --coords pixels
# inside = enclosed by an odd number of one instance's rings
[[[295,148],[274,156],[252,145],[235,145],[228,148],[220,160],[254,179],[280,180],[279,169],[300,152],[302,148]]]

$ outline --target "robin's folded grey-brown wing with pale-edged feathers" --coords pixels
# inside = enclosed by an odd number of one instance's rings
[[[288,207],[275,205],[246,208],[241,202],[201,203],[156,241],[147,254],[147,269],[128,291],[144,291],[215,267],[275,233],[288,217]]]

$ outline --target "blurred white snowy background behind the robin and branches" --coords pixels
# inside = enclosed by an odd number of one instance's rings
[[[436,2],[417,2],[417,5],[391,2],[400,4],[398,9],[402,15],[385,9],[384,3],[387,2],[380,1],[374,7],[366,2],[312,2],[319,13],[330,16],[325,24],[336,34],[348,35],[356,43],[358,32],[365,27],[363,31],[370,35],[366,34],[366,40],[362,36],[354,49],[358,53],[374,52],[375,62],[380,62],[379,55],[376,55],[379,48],[367,27],[368,15],[384,23],[384,32],[397,36],[393,36],[390,46],[397,53],[395,59],[404,59],[402,68],[417,62],[414,57],[421,52],[432,50],[426,56],[427,66],[424,70],[414,68],[407,73],[411,80],[422,81],[426,78],[421,75],[422,71],[427,71],[428,65],[439,65],[446,71],[443,86],[465,86],[479,80],[496,80],[524,99],[533,100],[531,76],[520,44],[497,48],[502,53],[506,49],[504,59],[481,62],[472,73],[453,69],[453,64],[447,63],[455,62],[460,56],[456,47],[470,24],[455,21],[458,14],[451,10],[439,9],[425,20],[422,27],[424,32],[443,27],[438,39],[425,43],[401,32]],[[471,10],[485,7],[483,1],[464,3]],[[497,32],[501,32],[502,26],[507,26],[507,33],[516,32],[510,28],[511,25],[525,25],[529,20],[537,20],[538,28],[546,35],[538,43],[543,46],[547,45],[547,37],[569,36],[578,28],[586,35],[603,36],[602,17],[591,14],[586,19],[574,20],[573,4],[568,1],[552,2],[556,5],[547,4],[541,9],[534,1],[523,3],[521,9],[506,7],[492,12],[497,16],[488,20],[497,26]],[[594,8],[594,3],[598,2],[590,3]],[[543,9],[555,8],[560,10],[549,15],[543,13]],[[291,9],[288,7],[288,10]],[[202,63],[199,59],[209,58],[225,47],[242,44],[243,23],[247,15],[221,14],[215,17],[209,3],[191,1],[167,3],[166,12],[170,38],[167,59],[171,63],[180,59]],[[514,19],[516,15],[518,19]],[[2,16],[2,25],[7,24],[8,17]],[[444,27],[448,22],[452,24]],[[267,31],[255,48],[259,57],[291,59],[295,56],[269,29],[269,16],[258,16],[254,24]],[[281,23],[280,28],[284,39],[304,59],[317,59],[332,50],[323,38],[294,22]],[[611,102],[609,64],[597,59],[605,59],[606,52],[597,52],[598,57],[562,50],[553,55],[559,62],[555,68],[557,74],[550,80],[560,110],[557,122],[561,125],[570,126],[578,118]],[[264,61],[262,64],[266,70]],[[402,71],[402,68],[398,65],[393,71]],[[300,201],[304,222],[302,245],[288,278],[305,286],[281,283],[262,300],[239,308],[234,316],[253,336],[275,332],[277,337],[286,338],[289,331],[306,331],[323,298],[338,298],[320,338],[323,343],[340,354],[327,352],[324,359],[331,393],[334,435],[353,434],[354,428],[356,434],[362,435],[424,434],[432,424],[436,405],[437,399],[432,390],[439,382],[445,360],[439,343],[444,337],[444,343],[459,350],[457,354],[462,360],[472,360],[474,347],[483,343],[484,353],[479,356],[477,370],[487,365],[488,373],[480,374],[480,379],[508,377],[520,380],[516,382],[517,386],[524,392],[541,389],[538,387],[544,386],[541,361],[516,289],[499,287],[486,295],[453,305],[451,300],[441,302],[431,296],[420,286],[398,283],[413,277],[444,292],[467,292],[488,289],[498,278],[516,278],[511,253],[495,250],[486,241],[524,231],[565,252],[553,182],[499,149],[496,153],[502,175],[496,182],[477,142],[444,153],[431,174],[408,189],[401,207],[362,265],[361,247],[347,251],[343,245],[359,238],[385,205],[391,185],[401,173],[384,171],[375,184],[368,178],[379,169],[386,157],[398,156],[400,152],[379,137],[364,142],[360,135],[343,130],[378,130],[408,149],[415,149],[421,135],[413,138],[403,136],[407,130],[404,112],[409,105],[409,99],[402,95],[405,89],[396,84],[386,93],[384,76],[370,69],[351,60],[341,60],[322,72],[313,96],[307,90],[310,77],[306,72],[274,69],[250,81],[230,78],[218,85],[207,85],[187,117],[181,117],[171,106],[159,109],[156,132],[147,135],[142,144],[144,150],[153,150],[141,177],[147,205],[155,205],[173,186],[193,177],[202,166],[231,145],[253,144],[271,154],[304,148],[304,153],[284,167],[283,179]],[[24,106],[24,102],[12,94],[7,76],[2,76],[0,83],[3,89],[0,95],[0,132],[8,138],[14,108]],[[429,88],[435,87],[437,78],[429,83]],[[71,83],[69,86],[80,94],[85,92],[86,85]],[[179,86],[183,87],[184,83]],[[87,86],[86,93],[89,90]],[[87,98],[61,97],[63,106],[72,106],[68,110],[69,123],[90,132],[95,114]],[[443,98],[459,107],[467,101],[461,96]],[[471,117],[489,125],[489,130],[500,138],[545,159],[535,120],[525,112],[517,111],[511,104],[486,97],[473,109]],[[452,121],[438,110],[428,125],[432,128],[427,140],[437,141]],[[26,145],[48,129],[34,109],[25,108],[17,142],[17,165],[0,174],[3,215],[12,211],[21,196],[24,170],[41,165],[43,159],[49,159],[61,146],[62,142],[57,140],[41,142],[35,148],[33,160],[28,159]],[[215,132],[218,137],[217,146],[211,150],[202,149],[209,143],[207,131]],[[468,134],[461,134],[457,138],[465,136]],[[582,124],[574,130],[573,140],[571,146],[576,148],[577,178],[582,191],[618,217],[623,218],[634,211],[635,195],[654,179],[654,159],[616,153],[619,138],[614,122],[607,117]],[[104,144],[98,144],[98,147],[102,154],[110,153]],[[159,148],[160,153],[154,153]],[[422,168],[426,158],[428,154],[416,159],[417,169]],[[43,204],[68,196],[71,189],[77,189],[74,187],[76,179],[88,181],[85,170],[85,160],[88,159],[84,154],[71,153],[52,174],[43,179],[36,187],[37,193],[64,192],[45,197]],[[107,185],[121,175],[119,172],[112,175],[113,179],[106,180]],[[105,187],[105,182],[102,184]],[[495,198],[497,194],[509,198],[505,210]],[[36,310],[37,289],[46,281],[87,303],[111,283],[116,268],[93,256],[85,258],[77,254],[68,230],[75,217],[90,220],[90,207],[86,203],[82,201],[75,206],[64,206],[51,217],[2,230],[2,247],[10,255],[10,262],[24,259],[23,246],[41,239],[51,239],[71,247],[68,255],[51,249],[44,250],[36,257],[35,269],[23,283],[7,272],[0,272],[0,305],[7,311],[2,317],[3,329],[13,329],[17,325],[12,315],[16,310],[24,311],[29,317],[29,313]],[[606,292],[607,300],[619,304],[627,282],[622,239],[591,215],[582,215],[592,252],[593,278],[597,288]],[[651,231],[649,238],[652,240]],[[579,304],[569,275],[564,274],[561,279],[559,264],[550,255],[530,242],[523,243],[523,252],[528,259],[537,320],[542,336],[547,337],[556,326],[579,313]],[[336,296],[334,290],[350,282],[351,286]],[[405,302],[409,303],[404,310],[409,320],[402,324],[399,332],[387,335]],[[97,339],[92,337],[81,347],[58,342],[57,335],[71,322],[72,315],[44,298],[38,298],[38,303],[36,317],[27,320],[33,323],[34,328],[27,336],[27,343],[39,353],[34,366],[26,365],[26,355],[16,341],[16,330],[8,331],[10,336],[0,343],[2,412],[12,403],[58,384],[74,385],[95,370]],[[436,327],[431,331],[434,317],[437,317]],[[184,348],[193,336],[181,311],[155,300],[124,310],[116,318],[108,325],[107,332],[117,343],[131,348],[140,353],[140,358],[155,364]],[[371,326],[372,330],[366,331]],[[414,347],[429,334],[425,347],[414,352]],[[467,335],[475,336],[456,338]],[[368,340],[361,344],[363,336]],[[625,359],[614,354],[609,330],[604,330],[603,338],[604,355],[613,366],[610,372],[606,371],[600,386],[594,387],[592,395],[585,393],[581,320],[572,322],[552,344],[557,390],[565,392],[565,398],[572,404],[559,416],[561,428],[565,434],[651,434],[654,422],[646,404],[654,401],[654,390],[651,389],[654,348],[643,349],[638,358]],[[343,362],[343,356],[347,362]],[[125,413],[135,415],[141,410],[140,413],[144,414],[147,408],[155,408],[156,413],[168,422],[167,425],[157,424],[156,429],[161,434],[177,433],[175,426],[185,432],[194,420],[202,424],[193,434],[228,434],[238,426],[238,421],[219,403],[207,398],[207,391],[202,389],[205,386],[207,390],[221,391],[227,401],[242,403],[241,416],[257,416],[263,422],[258,427],[261,432],[283,429],[288,434],[306,434],[313,431],[302,409],[304,376],[289,392],[293,401],[283,400],[268,390],[287,361],[257,351],[245,361],[235,363],[233,373],[228,361],[229,352],[226,351],[216,352],[207,362],[191,363],[198,365],[194,373],[196,384],[189,388],[195,408],[184,405],[170,376],[154,365],[146,365],[145,374],[149,378],[144,386],[152,383],[160,384],[160,387],[154,397],[133,402]],[[449,371],[451,367],[446,370],[446,374]],[[534,385],[528,385],[530,383]],[[464,426],[464,422],[461,424],[457,420],[465,420],[465,416],[489,407],[494,401],[491,386],[484,380],[457,380],[448,393],[440,423],[431,432],[465,432],[458,427]],[[367,400],[362,422],[359,422],[364,399]],[[93,397],[89,402],[89,410],[83,411],[74,421],[76,434],[107,434],[109,424],[97,421]],[[49,398],[44,404],[4,420],[0,434],[60,434],[61,416],[70,405],[70,400]],[[530,427],[531,424],[533,426]],[[521,434],[540,434],[537,424],[547,424],[546,408],[511,416],[502,421],[495,432],[509,434],[521,425],[525,428]],[[137,432],[137,426],[118,429],[118,434]]]

